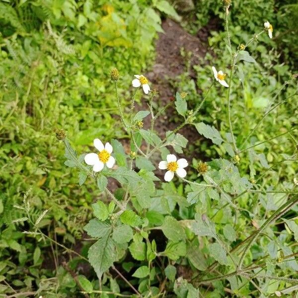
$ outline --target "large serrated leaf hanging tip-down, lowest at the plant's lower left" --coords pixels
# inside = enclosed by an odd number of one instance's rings
[[[101,279],[102,274],[113,265],[116,258],[116,247],[110,237],[110,231],[90,246],[88,250],[89,262],[99,279]]]

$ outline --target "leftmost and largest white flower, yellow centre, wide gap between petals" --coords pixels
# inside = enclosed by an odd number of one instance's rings
[[[93,165],[93,171],[99,172],[103,169],[104,164],[108,168],[112,168],[115,163],[115,158],[111,155],[113,147],[110,143],[106,143],[103,146],[102,142],[99,139],[94,139],[94,147],[99,151],[96,153],[88,153],[85,155],[86,164]]]

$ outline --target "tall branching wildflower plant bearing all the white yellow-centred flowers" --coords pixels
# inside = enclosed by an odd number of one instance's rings
[[[241,140],[234,135],[231,119],[235,70],[242,62],[255,63],[245,49],[266,31],[272,38],[273,30],[267,21],[264,29],[260,28],[261,31],[245,45],[234,45],[228,24],[231,8],[231,1],[224,1],[230,64],[223,68],[228,74],[217,72],[212,67],[209,88],[203,90],[195,107],[189,109],[187,94],[179,92],[176,93],[174,105],[158,107],[158,93],[151,91],[153,86],[149,80],[139,74],[132,77],[132,86],[136,89],[128,109],[121,105],[118,90],[121,76],[117,69],[113,69],[111,80],[123,131],[130,143],[129,149],[124,148],[122,140],[116,139],[105,140],[107,143],[104,145],[99,135],[93,141],[97,152],[90,152],[86,148],[85,152],[78,155],[66,134],[57,131],[57,138],[65,145],[65,164],[79,171],[79,185],[90,183],[86,180],[92,179],[98,187],[96,201],[90,206],[94,218],[84,226],[84,230],[92,239],[87,259],[99,282],[82,287],[84,293],[102,293],[108,279],[112,287],[110,271],[121,276],[127,291],[136,297],[163,295],[165,286],[158,286],[161,279],[179,298],[195,298],[199,295],[209,297],[205,296],[209,287],[218,294],[215,297],[220,297],[220,294],[225,295],[224,281],[230,285],[228,293],[236,297],[248,297],[249,287],[266,297],[279,293],[285,285],[298,283],[297,277],[292,276],[298,270],[295,260],[298,252],[285,245],[284,238],[287,235],[279,235],[270,228],[282,217],[288,217],[289,211],[298,203],[296,184],[289,182],[283,190],[267,190],[259,180],[254,179],[254,175],[250,178],[247,174],[241,175],[238,166],[243,157],[249,155],[253,156],[250,160],[261,159],[262,155],[257,155],[253,149],[266,144],[268,140],[246,145],[258,124]],[[223,109],[226,110],[226,119],[221,120],[227,123],[226,134],[200,121],[204,103],[212,101],[210,90],[221,87],[216,82],[225,87],[222,92],[225,92]],[[149,110],[135,110],[137,92],[145,93]],[[161,138],[154,129],[155,121],[173,106],[181,117],[181,124]],[[271,111],[269,109],[268,113]],[[144,124],[148,123],[146,118],[150,118],[149,126]],[[212,146],[224,148],[229,158],[214,158],[191,164],[188,140],[181,134],[185,126],[195,127],[198,134],[210,140]],[[294,153],[288,157],[294,158]],[[248,167],[252,168],[252,165]],[[109,182],[112,179],[117,180],[116,191],[111,190]],[[257,205],[260,200],[263,205],[269,204],[262,196],[269,196],[271,192],[280,192],[284,196],[271,202],[271,209],[266,209],[264,217],[256,221],[253,210],[246,210],[243,202]],[[234,220],[231,221],[231,218]],[[287,224],[290,233],[294,232],[297,240],[298,225],[295,219],[288,217],[283,223]],[[238,234],[237,227],[246,224],[249,224],[247,232]],[[251,225],[255,228],[252,229]],[[158,231],[162,231],[163,235],[164,243],[161,245]],[[266,233],[268,237],[261,238]],[[264,253],[257,251],[256,243],[260,239],[267,245],[268,251]],[[129,255],[137,265],[124,261],[129,259]],[[117,264],[121,262],[129,279],[119,271]],[[177,267],[185,264],[192,268],[192,277],[188,280],[177,272]],[[279,275],[280,267],[286,268],[287,276]],[[139,279],[138,287],[131,282],[132,279]],[[270,288],[272,281],[276,283],[276,291],[273,292]]]

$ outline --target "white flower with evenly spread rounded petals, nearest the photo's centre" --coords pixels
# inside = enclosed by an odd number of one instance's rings
[[[179,177],[184,178],[186,176],[185,167],[188,166],[188,162],[185,158],[180,158],[177,160],[177,157],[174,154],[168,154],[166,156],[166,161],[160,161],[158,168],[161,170],[167,170],[164,174],[164,180],[169,182],[173,179],[174,173]]]

